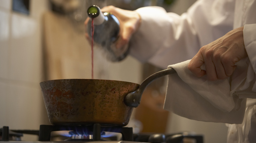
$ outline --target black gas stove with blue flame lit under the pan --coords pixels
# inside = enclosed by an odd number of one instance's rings
[[[52,132],[64,131],[65,139],[52,140]],[[112,134],[114,133],[114,134]],[[116,134],[115,134],[116,133]],[[23,134],[38,135],[38,141],[21,141]],[[121,135],[118,139],[115,135]],[[94,125],[40,125],[37,130],[9,130],[8,126],[0,129],[0,143],[203,143],[203,135],[189,133],[178,134],[133,134],[131,127]]]

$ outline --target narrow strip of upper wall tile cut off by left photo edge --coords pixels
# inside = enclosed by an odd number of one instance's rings
[[[5,79],[8,77],[9,15],[8,12],[0,10],[0,78]]]

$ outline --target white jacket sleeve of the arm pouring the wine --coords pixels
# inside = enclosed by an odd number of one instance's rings
[[[181,16],[161,7],[137,9],[139,30],[130,54],[161,68],[191,59],[198,50],[233,29],[234,0],[198,0]]]

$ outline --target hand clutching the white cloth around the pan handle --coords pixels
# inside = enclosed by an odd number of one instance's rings
[[[206,74],[207,79],[215,81],[232,75],[235,63],[247,56],[244,37],[244,27],[228,32],[223,37],[203,46],[191,59],[188,69],[197,77]],[[205,71],[201,66],[205,64]]]

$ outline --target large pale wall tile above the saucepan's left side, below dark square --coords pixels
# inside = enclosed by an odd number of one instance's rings
[[[39,83],[41,79],[41,42],[38,23],[30,17],[12,14],[10,79]]]

